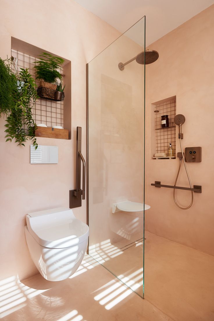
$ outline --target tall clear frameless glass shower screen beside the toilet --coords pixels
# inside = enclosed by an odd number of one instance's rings
[[[89,255],[141,297],[144,52],[145,17],[87,65]]]

